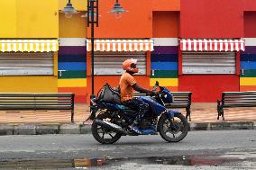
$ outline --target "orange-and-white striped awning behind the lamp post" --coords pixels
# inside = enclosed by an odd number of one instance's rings
[[[95,40],[95,51],[152,51],[153,40]],[[87,40],[87,51],[91,51],[91,40]]]

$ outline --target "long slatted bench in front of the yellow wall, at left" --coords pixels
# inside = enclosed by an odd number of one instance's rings
[[[75,94],[0,94],[0,110],[70,110],[74,122]]]

